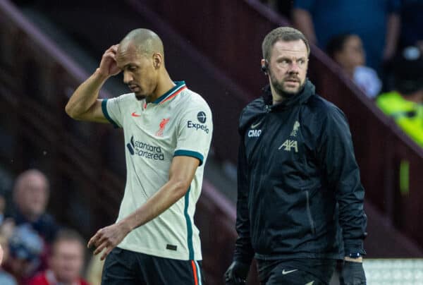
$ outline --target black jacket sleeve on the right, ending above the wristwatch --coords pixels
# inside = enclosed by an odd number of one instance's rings
[[[364,255],[363,240],[367,235],[367,217],[363,209],[364,188],[355,161],[350,128],[345,115],[336,107],[326,111],[321,135],[317,140],[316,155],[329,187],[335,190],[345,255]]]

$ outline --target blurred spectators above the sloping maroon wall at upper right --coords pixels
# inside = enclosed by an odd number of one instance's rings
[[[422,0],[264,0],[423,147]]]

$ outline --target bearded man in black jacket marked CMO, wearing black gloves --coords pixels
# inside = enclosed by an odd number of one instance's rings
[[[264,95],[240,116],[233,263],[226,284],[245,284],[252,257],[262,284],[365,284],[364,189],[343,112],[307,80],[309,44],[293,28],[262,44]]]

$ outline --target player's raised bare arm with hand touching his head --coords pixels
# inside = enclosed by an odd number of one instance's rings
[[[66,113],[73,119],[108,123],[102,111],[102,99],[99,92],[106,80],[118,74],[121,70],[116,64],[118,45],[107,49],[102,57],[99,68],[73,92],[66,104]]]

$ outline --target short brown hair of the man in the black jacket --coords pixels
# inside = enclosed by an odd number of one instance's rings
[[[302,42],[304,42],[305,46],[307,47],[307,55],[310,54],[310,46],[308,40],[306,39],[305,35],[302,34],[302,32],[290,27],[279,27],[274,30],[271,30],[271,32],[269,32],[269,34],[264,37],[262,43],[263,59],[269,61],[271,56],[271,48],[276,42],[280,40],[283,42],[293,42],[296,40],[302,40]]]

